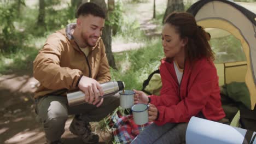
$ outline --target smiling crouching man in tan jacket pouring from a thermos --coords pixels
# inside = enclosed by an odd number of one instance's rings
[[[40,82],[34,99],[46,141],[61,143],[69,114],[75,115],[69,130],[85,143],[97,143],[89,122],[100,121],[119,106],[119,95],[99,99],[100,83],[110,80],[109,65],[101,39],[104,11],[85,3],[77,11],[77,23],[51,34],[34,60],[34,77]],[[69,107],[66,94],[85,93],[86,104]],[[100,93],[98,93],[100,92]]]

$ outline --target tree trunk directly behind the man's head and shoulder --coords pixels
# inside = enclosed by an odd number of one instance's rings
[[[107,5],[106,5],[105,1],[104,0],[91,0],[90,2],[99,5],[104,11],[106,11],[106,15],[107,15],[106,20],[108,20],[108,11],[107,11]],[[110,65],[110,67],[112,67],[113,69],[117,69],[117,66],[115,65],[115,59],[114,59],[112,49],[111,49],[111,47],[112,47],[111,35],[112,35],[112,27],[109,25],[106,25],[106,23],[105,23],[103,33],[102,33],[102,40],[106,47],[106,55],[107,55],[108,63]]]

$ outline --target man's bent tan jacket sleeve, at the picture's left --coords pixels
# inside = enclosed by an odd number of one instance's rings
[[[48,89],[75,88],[79,77],[83,75],[78,69],[60,66],[65,43],[56,35],[50,35],[33,62],[34,77]]]

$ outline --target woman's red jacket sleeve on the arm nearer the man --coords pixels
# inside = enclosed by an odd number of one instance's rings
[[[176,88],[173,86],[174,80],[171,79],[165,65],[160,66],[160,75],[162,80],[160,96],[150,95],[150,103],[154,104],[155,106],[171,106],[178,104],[179,97],[177,95]]]

